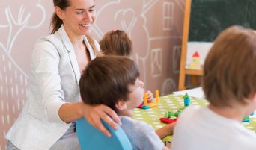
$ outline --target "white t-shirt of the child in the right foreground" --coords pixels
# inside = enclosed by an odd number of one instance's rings
[[[189,106],[174,128],[171,150],[255,150],[256,134],[208,107]]]

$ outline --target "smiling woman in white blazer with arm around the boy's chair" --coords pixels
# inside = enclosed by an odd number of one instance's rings
[[[35,45],[28,100],[6,135],[7,149],[80,149],[74,120],[85,117],[107,136],[100,118],[113,128],[112,119],[120,122],[109,107],[83,104],[79,96],[82,70],[99,53],[98,43],[85,36],[95,19],[95,1],[53,2],[52,32]]]

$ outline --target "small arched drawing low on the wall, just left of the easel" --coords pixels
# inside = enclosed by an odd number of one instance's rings
[[[161,96],[165,96],[176,91],[176,84],[172,78],[166,78],[162,84]]]

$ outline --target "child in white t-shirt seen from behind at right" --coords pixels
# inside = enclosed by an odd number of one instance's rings
[[[233,26],[219,35],[204,63],[207,107],[188,107],[171,149],[255,150],[256,134],[240,122],[256,109],[256,31]]]

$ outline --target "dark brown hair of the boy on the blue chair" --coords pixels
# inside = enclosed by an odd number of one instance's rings
[[[97,57],[88,64],[80,81],[80,94],[85,104],[105,104],[118,112],[115,104],[127,101],[129,85],[139,77],[138,66],[128,57]]]

